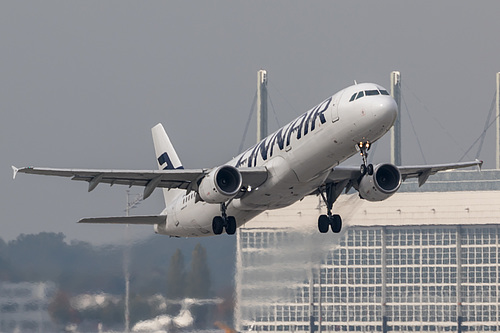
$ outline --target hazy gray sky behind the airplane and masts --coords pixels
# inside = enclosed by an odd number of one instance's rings
[[[124,214],[126,187],[13,181],[10,166],[155,168],[158,122],[185,167],[222,164],[237,154],[260,68],[281,125],[354,80],[388,87],[399,70],[427,162],[456,162],[494,96],[499,12],[498,1],[2,1],[0,237],[120,241],[123,227],[75,222]],[[406,107],[403,123],[403,163],[424,163]],[[254,136],[255,126],[247,145]],[[387,136],[374,160],[387,161],[388,148]],[[133,213],[162,202],[156,191]]]

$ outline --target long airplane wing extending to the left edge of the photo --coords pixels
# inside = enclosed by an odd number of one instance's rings
[[[45,176],[70,177],[72,180],[89,183],[89,192],[100,183],[110,185],[144,186],[144,198],[153,193],[157,187],[196,190],[198,181],[210,169],[178,169],[178,170],[100,170],[100,169],[53,169],[53,168],[16,168],[12,167],[14,178],[17,173],[28,173]],[[243,178],[243,186],[258,187],[267,179],[264,167],[238,169]]]

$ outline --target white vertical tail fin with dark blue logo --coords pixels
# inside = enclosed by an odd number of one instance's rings
[[[181,160],[175,152],[174,146],[168,138],[167,132],[162,124],[157,124],[151,129],[153,134],[153,143],[155,146],[156,161],[160,170],[184,169]],[[179,196],[184,190],[163,189],[165,205],[168,205],[175,197]]]

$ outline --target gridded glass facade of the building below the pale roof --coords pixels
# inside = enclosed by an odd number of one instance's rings
[[[500,331],[497,225],[351,227],[336,243],[321,236],[239,229],[240,331]]]

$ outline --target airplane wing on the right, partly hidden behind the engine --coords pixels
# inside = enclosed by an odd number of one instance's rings
[[[436,174],[439,171],[453,170],[460,168],[468,168],[472,166],[481,167],[482,161],[475,160],[474,162],[462,162],[462,163],[448,163],[448,164],[434,164],[434,165],[417,165],[417,166],[398,166],[401,172],[401,178],[404,180],[408,178],[418,178],[418,185],[422,186],[425,184],[429,176]],[[357,181],[361,177],[361,172],[359,167],[354,166],[338,166],[332,169],[327,179],[326,184],[340,185],[342,188],[349,190],[353,182]],[[342,186],[343,185],[343,186]]]

